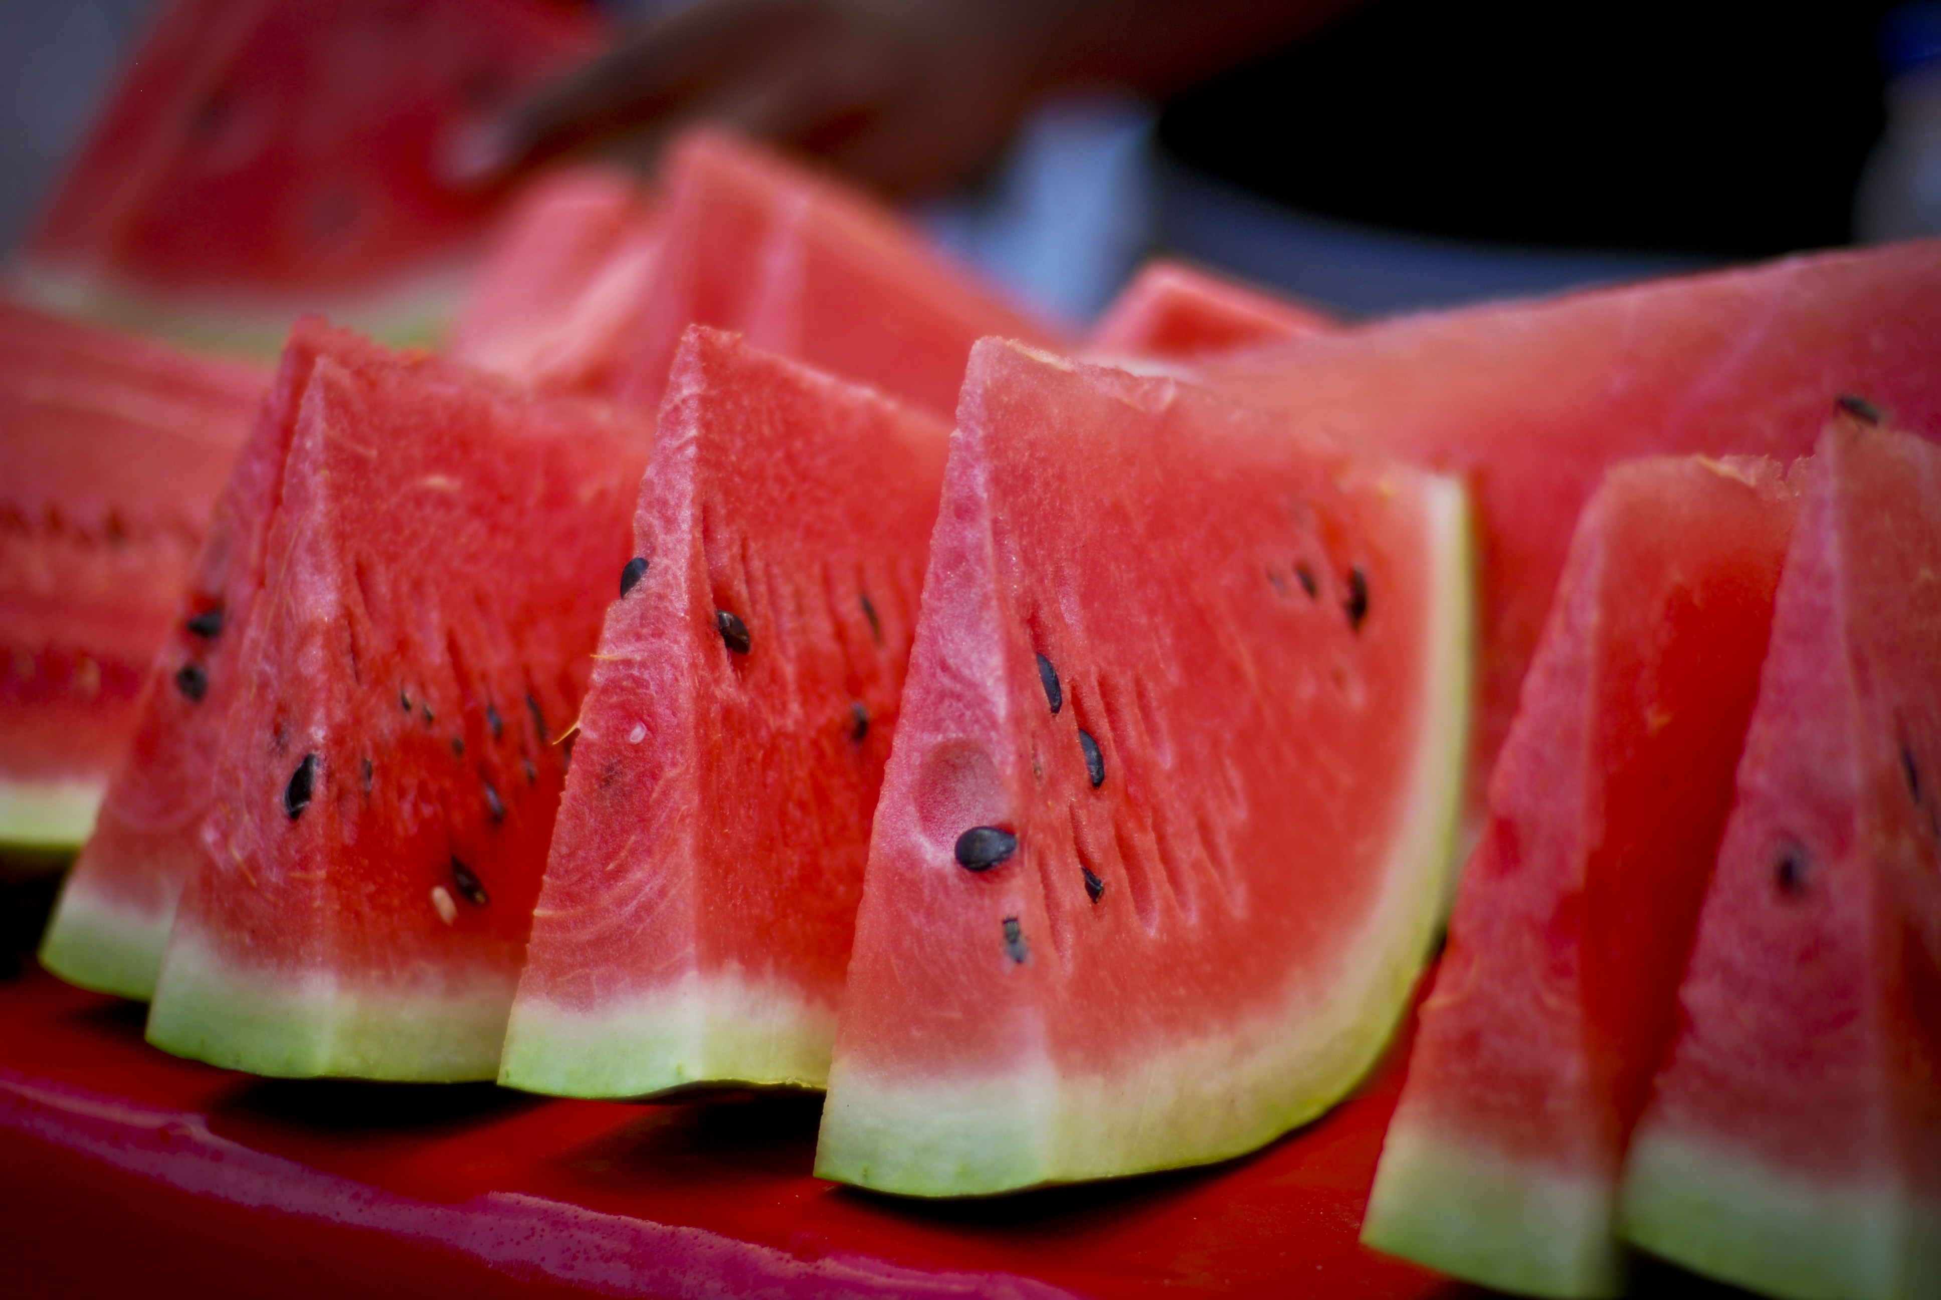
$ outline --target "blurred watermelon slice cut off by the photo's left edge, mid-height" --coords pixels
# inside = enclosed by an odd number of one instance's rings
[[[0,843],[87,838],[266,383],[0,301]]]

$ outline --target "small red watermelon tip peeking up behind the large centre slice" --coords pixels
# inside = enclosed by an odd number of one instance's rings
[[[1312,307],[1159,258],[1120,290],[1085,346],[1099,356],[1194,361],[1333,328],[1339,323]]]

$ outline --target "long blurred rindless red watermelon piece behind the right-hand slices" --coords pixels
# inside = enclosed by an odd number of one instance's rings
[[[1570,530],[1607,466],[1661,453],[1790,461],[1842,393],[1941,437],[1941,241],[1316,334],[1201,375],[1300,429],[1469,480],[1479,814]]]

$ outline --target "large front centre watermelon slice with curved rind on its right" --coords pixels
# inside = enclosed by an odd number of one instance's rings
[[[1333,1104],[1436,927],[1467,560],[1450,480],[980,342],[817,1174],[1106,1178]]]

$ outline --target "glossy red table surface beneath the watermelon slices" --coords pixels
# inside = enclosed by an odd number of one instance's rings
[[[6,1296],[1458,1296],[1355,1234],[1399,1045],[1244,1160],[959,1203],[809,1174],[819,1098],[274,1080],[0,983]],[[1663,1290],[1691,1279],[1652,1275]]]

